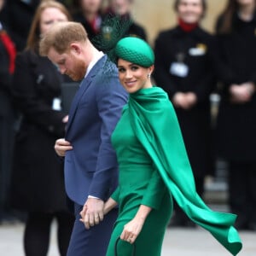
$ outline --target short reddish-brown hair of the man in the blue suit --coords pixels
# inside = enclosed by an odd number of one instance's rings
[[[54,24],[49,31],[44,34],[44,38],[39,43],[39,54],[47,56],[50,48],[54,48],[57,53],[63,54],[69,49],[69,45],[74,42],[85,42],[88,39],[84,26],[79,22],[63,21]]]

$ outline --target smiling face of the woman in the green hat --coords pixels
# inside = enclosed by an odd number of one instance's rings
[[[123,59],[118,61],[120,83],[129,93],[152,87],[148,74],[151,74],[153,69],[154,66],[141,67]]]

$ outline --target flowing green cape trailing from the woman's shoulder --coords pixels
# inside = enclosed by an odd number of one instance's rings
[[[241,239],[233,226],[236,215],[213,212],[196,193],[177,116],[166,92],[159,87],[139,90],[130,95],[128,107],[132,129],[177,204],[230,253],[239,253]]]

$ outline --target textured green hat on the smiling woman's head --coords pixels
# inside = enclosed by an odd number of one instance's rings
[[[142,67],[154,64],[153,49],[141,38],[127,37],[119,40],[115,47],[116,60],[123,59]]]

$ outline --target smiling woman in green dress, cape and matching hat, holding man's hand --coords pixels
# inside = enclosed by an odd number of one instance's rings
[[[105,203],[104,213],[119,205],[119,217],[107,256],[160,256],[172,198],[191,220],[236,255],[241,250],[233,227],[236,215],[213,212],[197,195],[172,103],[150,80],[153,50],[142,39],[128,37],[119,41],[115,55],[119,80],[130,97],[112,136],[119,187]]]

